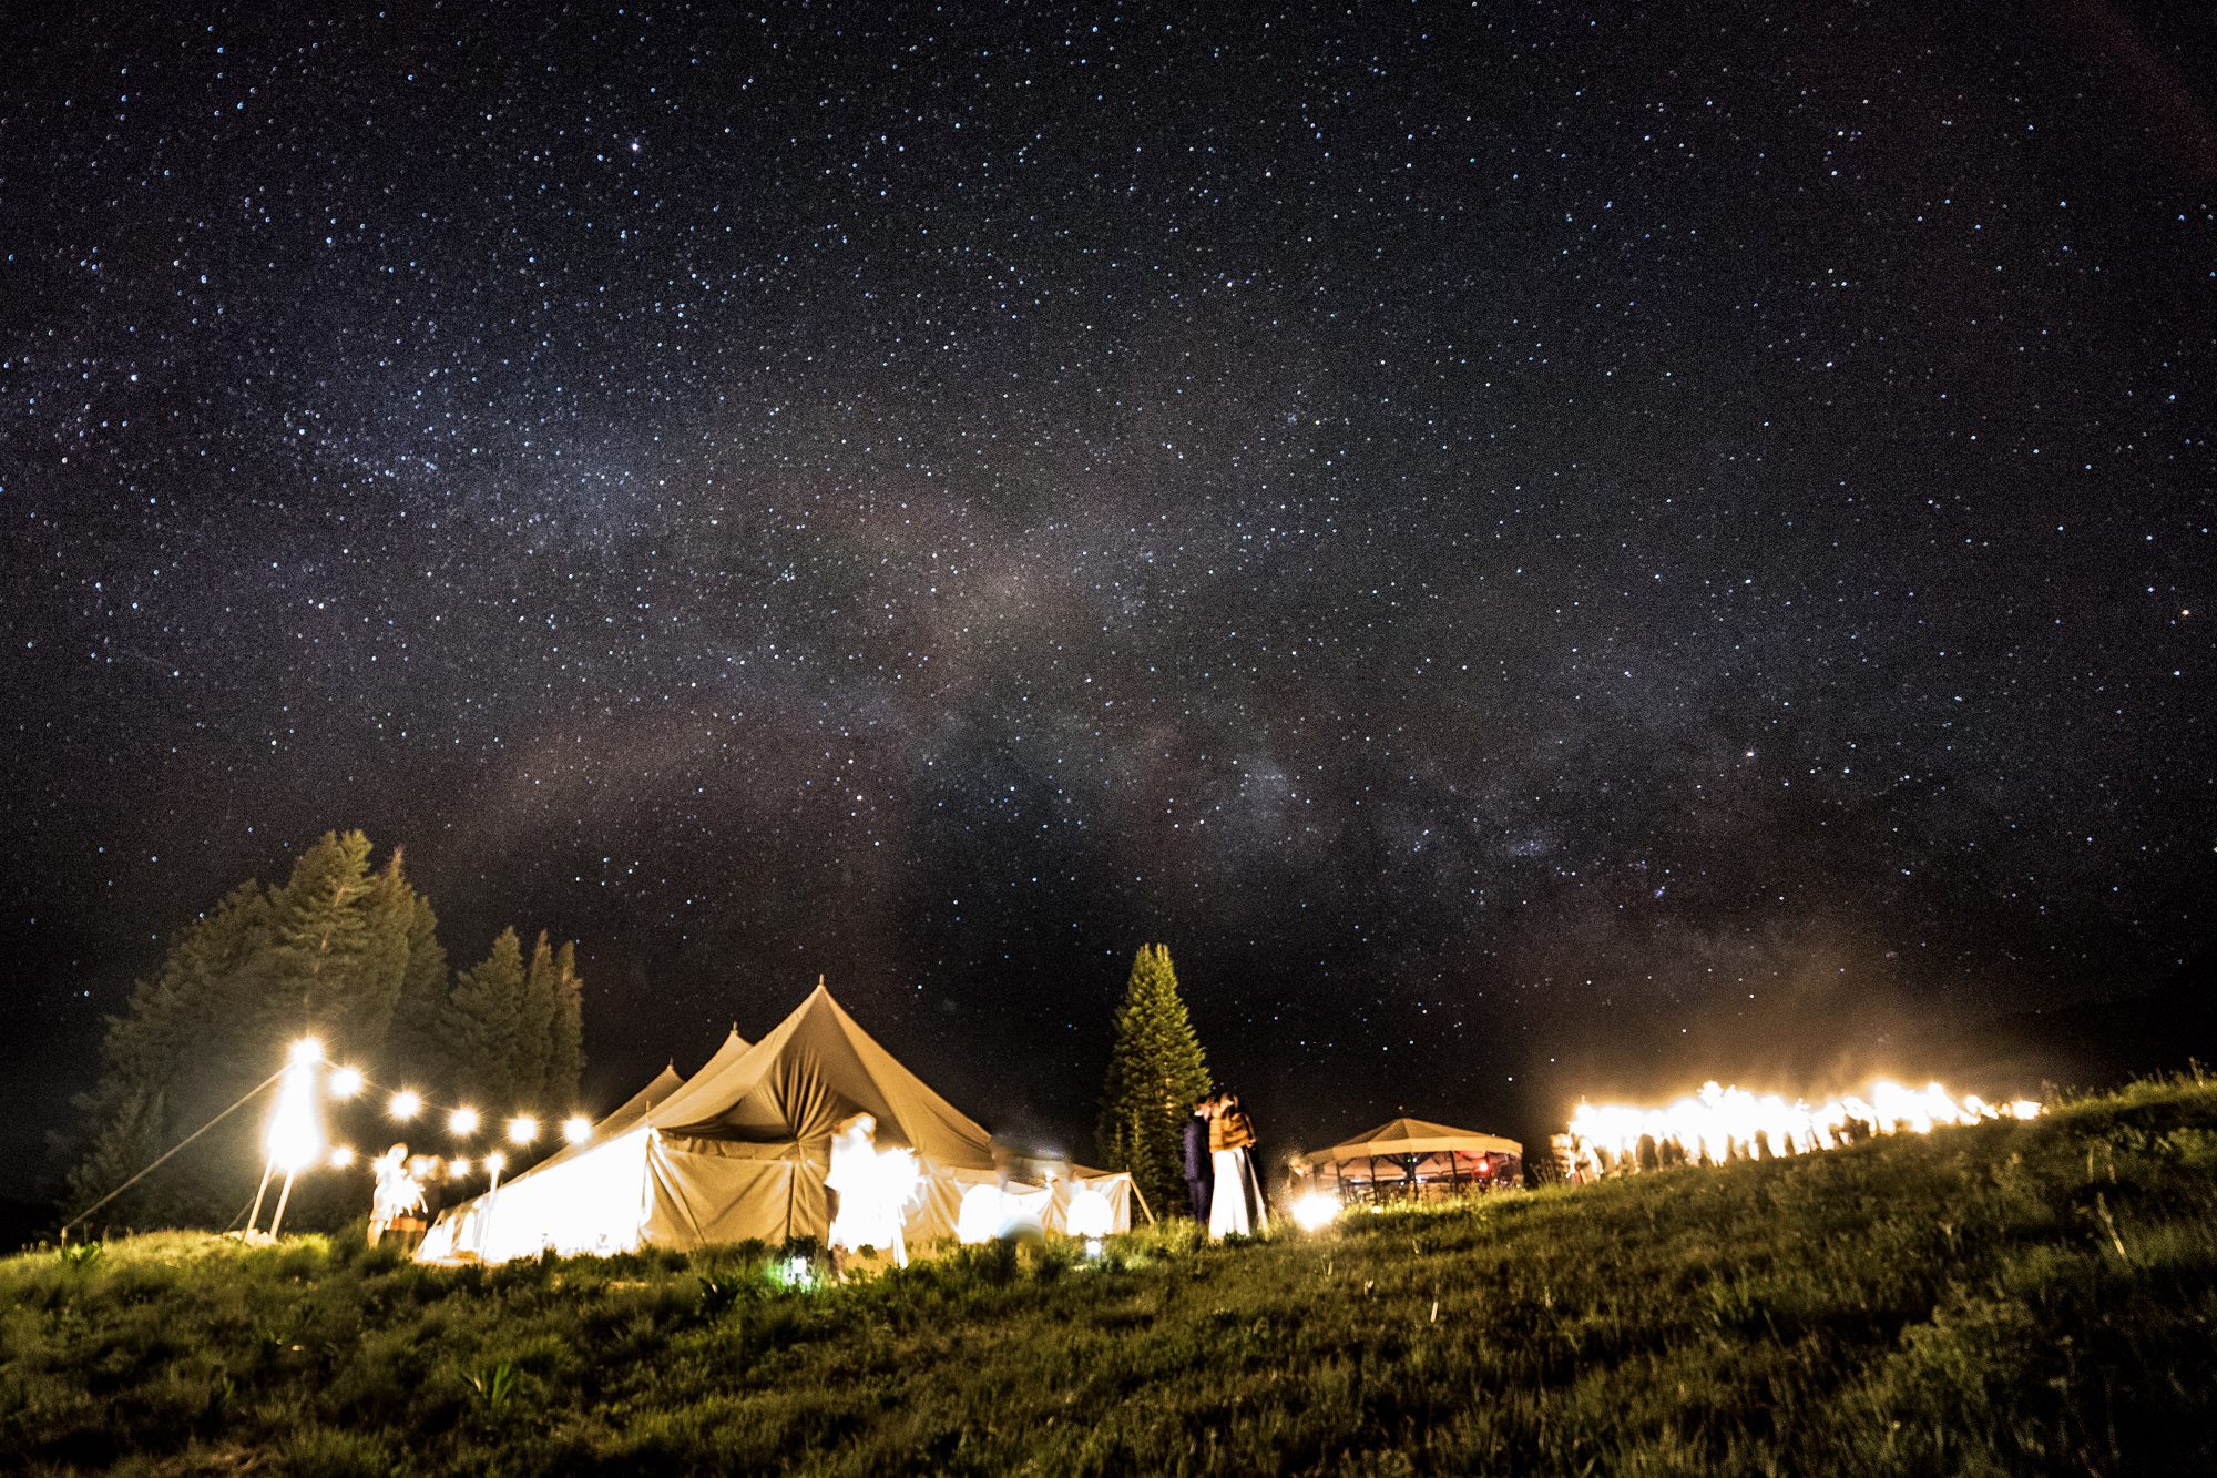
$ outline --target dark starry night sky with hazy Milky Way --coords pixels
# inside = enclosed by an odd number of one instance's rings
[[[2217,22],[51,7],[0,1172],[326,828],[1080,1154],[1884,1067],[2210,941]],[[1698,1081],[1698,1079],[1692,1079]]]

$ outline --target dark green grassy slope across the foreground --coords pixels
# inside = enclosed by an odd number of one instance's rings
[[[0,1263],[33,1474],[2217,1471],[2217,1083],[1239,1247]]]

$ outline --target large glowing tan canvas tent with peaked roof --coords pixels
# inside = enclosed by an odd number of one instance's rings
[[[922,1172],[902,1236],[920,1247],[953,1236],[973,1187],[1049,1232],[1069,1229],[1080,1185],[1131,1227],[1131,1176],[1073,1165],[1042,1185],[1007,1183],[993,1138],[856,1025],[820,983],[749,1045],[732,1032],[683,1083],[665,1070],[594,1125],[592,1141],[446,1209],[417,1258],[503,1263],[552,1247],[563,1256],[703,1247],[760,1238],[823,1238],[831,1130],[849,1114],[878,1121],[876,1147],[916,1152]]]

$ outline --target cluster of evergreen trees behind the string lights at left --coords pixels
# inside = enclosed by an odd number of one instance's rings
[[[58,1136],[69,1165],[64,1214],[124,1185],[248,1094],[299,1036],[432,1103],[554,1123],[574,1110],[585,1065],[576,948],[539,934],[525,959],[508,928],[481,963],[450,970],[439,919],[408,883],[401,850],[372,865],[364,832],[324,832],[282,885],[244,881],[195,919],[109,1019],[100,1081],[75,1099],[75,1127]],[[384,1094],[375,1099],[381,1105]],[[370,1105],[353,1114],[372,1123]],[[228,1225],[262,1174],[264,1116],[262,1105],[239,1110],[102,1216],[142,1227]],[[330,1218],[346,1203],[326,1185],[308,1192],[304,1214]]]

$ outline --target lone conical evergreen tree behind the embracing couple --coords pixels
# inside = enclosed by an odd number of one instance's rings
[[[1097,1134],[1102,1165],[1128,1170],[1155,1207],[1179,1205],[1186,1118],[1208,1085],[1208,1056],[1177,994],[1171,950],[1140,945],[1115,1019]]]

